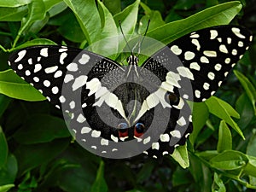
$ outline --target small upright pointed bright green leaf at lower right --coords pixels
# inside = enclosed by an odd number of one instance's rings
[[[224,150],[232,149],[232,136],[230,128],[226,125],[225,121],[222,120],[219,125],[218,130],[218,144],[217,151],[218,153],[223,152]]]

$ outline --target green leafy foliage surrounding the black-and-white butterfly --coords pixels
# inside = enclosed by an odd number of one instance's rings
[[[102,159],[79,147],[61,112],[15,75],[7,59],[15,49],[38,44],[84,48],[119,35],[119,20],[125,34],[136,37],[150,19],[147,36],[164,44],[229,23],[255,34],[255,13],[254,0],[0,0],[0,192],[254,191],[254,42],[215,96],[194,103],[187,145],[162,161]],[[125,42],[106,45],[92,51],[108,55]]]

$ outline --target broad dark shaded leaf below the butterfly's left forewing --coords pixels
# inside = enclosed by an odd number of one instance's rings
[[[21,144],[47,143],[63,137],[70,137],[65,121],[48,114],[32,116],[14,135]]]

